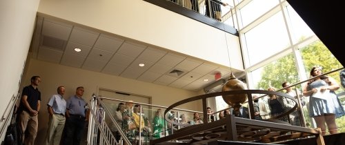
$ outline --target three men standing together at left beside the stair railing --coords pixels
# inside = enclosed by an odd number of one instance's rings
[[[23,88],[17,121],[21,129],[23,144],[33,145],[37,136],[38,115],[41,109],[41,92],[37,88],[41,77],[33,76],[31,84]],[[63,144],[80,144],[83,128],[88,121],[87,103],[82,98],[83,87],[79,86],[75,95],[64,99],[66,88],[57,87],[57,94],[52,95],[47,103],[49,114],[48,131],[45,144],[59,145],[61,137]]]

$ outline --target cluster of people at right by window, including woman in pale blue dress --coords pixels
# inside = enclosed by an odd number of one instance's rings
[[[342,73],[340,72],[340,79],[342,81]],[[335,94],[335,90],[340,88],[337,81],[332,77],[322,75],[322,68],[320,66],[315,66],[311,68],[310,75],[313,79],[308,81],[303,88],[302,95],[308,97],[308,104],[302,101],[302,105],[306,105],[308,108],[308,115],[313,117],[315,120],[317,128],[320,128],[323,135],[326,135],[326,126],[330,134],[337,133],[337,124],[335,123],[335,118],[342,117],[345,115],[344,108],[339,101],[339,98]],[[344,74],[345,75],[345,74]],[[345,76],[344,76],[345,77]],[[344,78],[343,78],[344,79]],[[286,93],[292,97],[296,97],[297,94],[291,90],[290,84],[284,82],[282,86],[285,88]],[[345,85],[343,86],[345,87]],[[268,88],[270,91],[275,91],[275,88]],[[285,113],[286,110],[293,108],[295,102],[286,99],[284,97],[269,95],[268,106],[270,108],[271,117],[275,117]],[[282,121],[290,122],[290,124],[295,126],[302,126],[300,121],[300,115],[297,110],[290,113],[288,117],[280,117]]]

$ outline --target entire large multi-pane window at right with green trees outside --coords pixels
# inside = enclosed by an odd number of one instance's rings
[[[305,81],[313,66],[322,66],[323,72],[343,67],[287,1],[236,3],[235,0],[235,10],[249,89],[267,90],[269,86],[280,89],[284,81],[290,84]],[[339,72],[328,76],[340,84]],[[297,88],[302,91],[302,86]],[[344,88],[336,93],[344,106]],[[313,124],[308,112],[304,115],[308,124]],[[337,118],[336,122],[339,132],[344,133],[345,117]]]

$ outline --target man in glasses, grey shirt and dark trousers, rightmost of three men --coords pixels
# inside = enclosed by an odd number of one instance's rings
[[[84,88],[79,86],[74,96],[67,100],[66,104],[66,133],[63,144],[79,145],[85,123],[88,121],[86,115],[86,101],[81,98]]]

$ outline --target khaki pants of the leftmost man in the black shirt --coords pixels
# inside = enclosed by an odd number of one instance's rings
[[[38,116],[31,116],[23,110],[20,115],[20,125],[24,144],[34,145],[34,139],[36,138],[37,128],[39,126]],[[25,135],[26,131],[28,131],[27,135]]]

